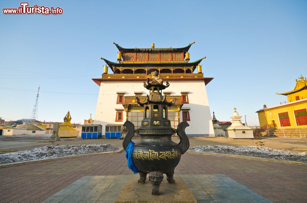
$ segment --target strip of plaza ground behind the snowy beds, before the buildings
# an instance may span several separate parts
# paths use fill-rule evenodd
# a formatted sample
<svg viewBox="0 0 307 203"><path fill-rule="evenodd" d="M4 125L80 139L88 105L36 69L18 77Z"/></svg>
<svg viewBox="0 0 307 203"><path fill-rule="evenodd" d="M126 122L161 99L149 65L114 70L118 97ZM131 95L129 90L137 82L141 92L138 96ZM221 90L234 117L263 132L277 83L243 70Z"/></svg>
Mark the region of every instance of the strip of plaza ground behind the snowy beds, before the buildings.
<svg viewBox="0 0 307 203"><path fill-rule="evenodd" d="M134 142L138 142L140 137L134 137L132 140ZM6 150L14 150L14 151L22 151L29 150L34 147L42 147L46 145L51 145L50 142L47 142L48 137L45 139L36 139L35 136L31 138L23 138L18 136L0 136L0 151L3 149ZM228 146L249 146L256 145L256 140L243 140L243 139L227 139L224 137L196 137L189 138L190 146L197 145L228 145ZM173 137L174 142L179 142L178 137ZM268 138L264 137L262 139L264 142L264 147L271 147L275 149L289 150L289 151L298 151L307 152L307 139L298 139L298 138ZM62 139L60 142L55 142L55 145L69 145L69 144L112 144L116 147L122 146L122 140L119 139L78 139L78 140L68 140ZM7 153L7 152L6 152Z"/></svg>

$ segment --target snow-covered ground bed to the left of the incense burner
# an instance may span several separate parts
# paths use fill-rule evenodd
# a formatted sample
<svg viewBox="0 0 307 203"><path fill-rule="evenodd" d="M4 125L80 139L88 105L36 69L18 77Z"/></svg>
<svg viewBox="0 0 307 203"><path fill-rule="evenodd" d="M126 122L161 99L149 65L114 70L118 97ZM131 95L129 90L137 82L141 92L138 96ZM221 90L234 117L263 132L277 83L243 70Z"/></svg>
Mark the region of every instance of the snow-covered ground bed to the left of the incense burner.
<svg viewBox="0 0 307 203"><path fill-rule="evenodd" d="M8 154L0 154L0 164L13 163L37 159L50 159L55 157L91 154L107 151L116 151L119 147L111 144L79 144L79 145L61 145L61 146L44 146L33 148L29 151L18 151Z"/></svg>

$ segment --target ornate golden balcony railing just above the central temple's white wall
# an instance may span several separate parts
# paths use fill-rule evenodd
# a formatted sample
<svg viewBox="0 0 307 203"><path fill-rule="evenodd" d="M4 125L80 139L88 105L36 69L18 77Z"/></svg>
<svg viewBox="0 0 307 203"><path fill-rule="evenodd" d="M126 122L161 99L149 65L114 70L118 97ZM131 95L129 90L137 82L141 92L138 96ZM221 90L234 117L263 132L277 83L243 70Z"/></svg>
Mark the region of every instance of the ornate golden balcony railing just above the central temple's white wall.
<svg viewBox="0 0 307 203"><path fill-rule="evenodd" d="M150 75L144 73L113 73L113 74L102 74L102 78L147 78ZM203 73L161 73L161 78L203 78Z"/></svg>

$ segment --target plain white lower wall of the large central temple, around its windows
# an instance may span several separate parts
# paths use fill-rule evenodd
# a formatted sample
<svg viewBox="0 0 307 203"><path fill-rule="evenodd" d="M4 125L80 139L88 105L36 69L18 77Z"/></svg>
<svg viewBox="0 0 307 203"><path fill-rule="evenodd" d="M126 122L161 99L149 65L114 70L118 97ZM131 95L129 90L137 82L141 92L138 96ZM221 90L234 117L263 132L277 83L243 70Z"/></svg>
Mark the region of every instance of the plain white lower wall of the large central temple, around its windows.
<svg viewBox="0 0 307 203"><path fill-rule="evenodd" d="M166 81L167 79L164 79L164 84ZM190 126L186 128L186 134L188 136L215 136L204 81L170 80L169 84L170 86L165 91L172 91L171 95L181 95L181 91L189 91L189 103L183 105L183 107L191 108L189 110L191 121L187 121ZM143 96L149 94L149 90L143 87L142 81L102 81L94 124L103 125L103 134L106 124L123 124L126 121L126 112L123 112L123 122L115 122L115 108L124 108L122 104L116 104L116 92L119 91L125 91L124 96L134 96L134 92L138 91L143 91ZM180 112L180 121L182 121L182 112Z"/></svg>

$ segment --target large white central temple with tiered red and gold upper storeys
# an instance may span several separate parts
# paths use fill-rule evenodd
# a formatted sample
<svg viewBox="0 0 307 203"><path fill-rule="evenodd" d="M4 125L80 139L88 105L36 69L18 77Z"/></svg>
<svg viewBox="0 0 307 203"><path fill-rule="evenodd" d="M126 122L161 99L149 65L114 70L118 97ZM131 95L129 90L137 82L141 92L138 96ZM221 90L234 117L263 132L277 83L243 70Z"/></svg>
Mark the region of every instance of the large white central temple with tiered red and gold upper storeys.
<svg viewBox="0 0 307 203"><path fill-rule="evenodd" d="M171 126L177 128L179 122L188 121L188 136L215 136L206 92L213 78L202 72L200 62L206 57L190 62L188 50L194 43L183 48L155 48L154 44L151 48L122 48L113 42L119 50L117 62L101 58L106 62L102 78L93 79L100 86L94 124L103 125L103 135L107 125L126 120L141 127L143 109L136 97L144 101L143 82L156 71L156 77L169 81L170 87L163 91L167 101L176 99L168 109Z"/></svg>

